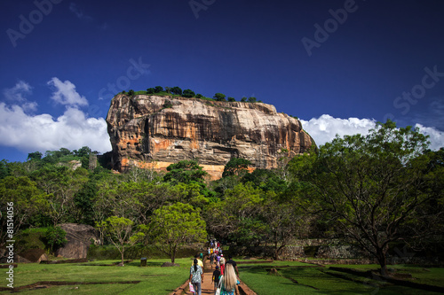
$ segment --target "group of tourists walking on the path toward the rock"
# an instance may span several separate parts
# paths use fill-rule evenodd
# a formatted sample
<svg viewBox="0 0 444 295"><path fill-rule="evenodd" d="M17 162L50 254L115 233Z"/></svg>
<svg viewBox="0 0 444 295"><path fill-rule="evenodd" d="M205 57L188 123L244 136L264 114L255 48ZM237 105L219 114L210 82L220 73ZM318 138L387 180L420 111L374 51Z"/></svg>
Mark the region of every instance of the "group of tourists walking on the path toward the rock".
<svg viewBox="0 0 444 295"><path fill-rule="evenodd" d="M203 283L203 262L199 258L202 259L202 253L194 257L189 278L196 295L201 295ZM219 242L215 240L210 241L207 259L210 259L211 269L215 265L211 278L212 283L214 283L214 291L220 289L220 295L239 294L237 284L240 282L237 279L239 276L237 264L231 255L228 255L228 260L225 259Z"/></svg>

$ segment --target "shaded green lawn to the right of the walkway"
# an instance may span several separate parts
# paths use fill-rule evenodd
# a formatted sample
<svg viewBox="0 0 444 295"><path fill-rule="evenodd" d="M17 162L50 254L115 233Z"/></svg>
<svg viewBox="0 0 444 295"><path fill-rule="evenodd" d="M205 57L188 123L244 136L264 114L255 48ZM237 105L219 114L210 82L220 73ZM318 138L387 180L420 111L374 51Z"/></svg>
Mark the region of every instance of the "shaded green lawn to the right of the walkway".
<svg viewBox="0 0 444 295"><path fill-rule="evenodd" d="M266 266L266 268L264 268ZM289 268L279 268L289 266ZM292 261L274 261L261 265L240 264L241 279L258 295L273 294L437 294L413 288L401 287L390 283L380 282L370 277L359 277L325 268L301 268L308 264ZM312 265L313 266L313 265ZM278 267L281 276L269 276L268 270ZM336 267L361 268L362 270L377 269L377 266L348 266ZM395 267L395 268L398 268ZM420 270L422 269L422 270ZM416 272L414 271L416 270ZM398 272L408 272L416 283L441 285L444 278L443 268L414 268L400 267ZM340 276L340 277L338 277ZM297 283L295 283L297 282Z"/></svg>

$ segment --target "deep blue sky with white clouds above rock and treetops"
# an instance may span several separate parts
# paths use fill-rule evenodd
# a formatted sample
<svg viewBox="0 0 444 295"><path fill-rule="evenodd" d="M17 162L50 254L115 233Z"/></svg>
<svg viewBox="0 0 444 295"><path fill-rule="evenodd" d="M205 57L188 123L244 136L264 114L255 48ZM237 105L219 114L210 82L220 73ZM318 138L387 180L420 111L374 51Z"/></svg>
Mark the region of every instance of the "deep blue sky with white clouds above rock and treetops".
<svg viewBox="0 0 444 295"><path fill-rule="evenodd" d="M326 132L353 133L386 118L421 124L443 143L439 0L18 0L0 8L0 159L85 144L106 151L98 141L107 141L110 84L254 96L305 120L320 143ZM326 24L328 37L318 32L309 56L302 40L315 42L316 25ZM411 91L419 98L402 98Z"/></svg>

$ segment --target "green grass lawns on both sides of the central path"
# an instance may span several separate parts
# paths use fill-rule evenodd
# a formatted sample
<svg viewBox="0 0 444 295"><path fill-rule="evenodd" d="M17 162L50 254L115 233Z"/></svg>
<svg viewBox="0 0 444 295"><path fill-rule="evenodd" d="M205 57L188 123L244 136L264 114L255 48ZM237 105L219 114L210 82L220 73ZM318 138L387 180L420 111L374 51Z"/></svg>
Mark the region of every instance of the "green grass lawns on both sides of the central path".
<svg viewBox="0 0 444 295"><path fill-rule="evenodd" d="M23 290L24 294L168 294L184 283L188 277L191 258L178 259L178 268L161 268L168 260L148 260L147 268L139 267L134 260L125 267L99 266L116 260L100 260L79 264L19 264L14 269L14 286L39 281L78 282L75 285L52 286L47 289ZM242 260L237 260L241 262ZM249 262L251 260L245 260ZM257 260L261 261L261 260ZM348 275L329 269L295 261L265 261L258 264L238 264L241 279L258 295L274 294L437 294L413 288L400 287L366 277ZM279 276L268 275L277 268ZM377 269L376 265L335 267ZM416 283L443 286L444 268L415 268L395 266L398 273L409 273ZM4 273L4 271L1 271ZM4 276L4 275L3 275ZM4 279L2 279L4 281ZM140 283L117 282L140 281ZM82 284L82 283L103 284ZM6 287L2 283L1 287ZM6 294L9 291L0 291Z"/></svg>

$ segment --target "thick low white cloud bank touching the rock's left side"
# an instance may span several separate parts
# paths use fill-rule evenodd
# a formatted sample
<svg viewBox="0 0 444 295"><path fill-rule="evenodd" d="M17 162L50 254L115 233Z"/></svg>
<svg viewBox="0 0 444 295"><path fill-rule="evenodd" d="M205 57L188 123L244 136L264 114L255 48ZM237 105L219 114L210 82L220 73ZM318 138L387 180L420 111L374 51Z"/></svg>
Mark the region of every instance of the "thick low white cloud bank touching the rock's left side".
<svg viewBox="0 0 444 295"><path fill-rule="evenodd" d="M73 107L54 120L47 113L28 115L19 105L0 103L0 138L2 145L25 152L62 147L75 150L84 145L94 151L111 151L107 122L103 118L87 118Z"/></svg>

